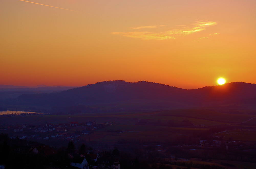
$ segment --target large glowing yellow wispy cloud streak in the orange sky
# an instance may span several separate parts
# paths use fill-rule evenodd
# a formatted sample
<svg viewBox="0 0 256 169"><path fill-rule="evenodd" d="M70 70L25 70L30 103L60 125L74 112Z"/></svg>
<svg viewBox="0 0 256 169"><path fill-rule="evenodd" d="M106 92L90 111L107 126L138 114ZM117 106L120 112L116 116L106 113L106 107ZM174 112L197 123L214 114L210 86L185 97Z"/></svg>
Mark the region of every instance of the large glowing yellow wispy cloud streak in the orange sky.
<svg viewBox="0 0 256 169"><path fill-rule="evenodd" d="M118 34L122 36L140 38L142 40L165 40L165 39L175 39L179 36L185 36L192 33L200 32L205 30L209 26L216 25L216 22L211 21L197 21L192 26L187 25L176 25L177 29L170 29L165 32L150 32L150 31L133 31L133 32L111 32L111 34ZM135 27L132 29L145 29L145 28L157 28L164 25L153 25L153 26L142 26Z"/></svg>

